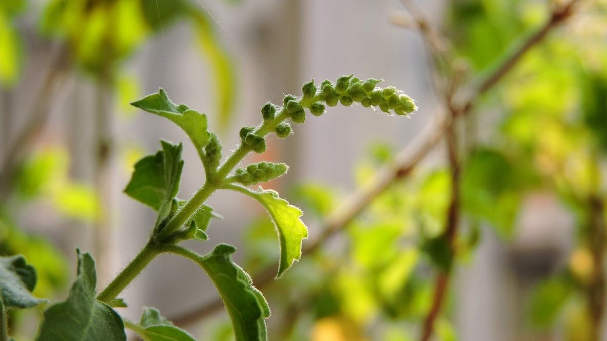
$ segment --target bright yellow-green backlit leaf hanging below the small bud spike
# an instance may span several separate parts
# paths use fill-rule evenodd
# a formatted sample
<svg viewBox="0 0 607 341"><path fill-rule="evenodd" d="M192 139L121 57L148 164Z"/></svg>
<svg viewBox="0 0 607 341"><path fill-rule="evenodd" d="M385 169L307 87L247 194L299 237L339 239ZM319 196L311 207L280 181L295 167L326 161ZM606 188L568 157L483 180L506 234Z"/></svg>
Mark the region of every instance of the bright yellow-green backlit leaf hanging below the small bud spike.
<svg viewBox="0 0 607 341"><path fill-rule="evenodd" d="M270 214L280 240L280 265L276 275L277 278L280 277L302 255L302 241L308 237L308 228L299 218L303 214L302 211L280 198L276 191L264 190L261 187L259 191L251 191L237 185L229 185L226 188L255 198Z"/></svg>

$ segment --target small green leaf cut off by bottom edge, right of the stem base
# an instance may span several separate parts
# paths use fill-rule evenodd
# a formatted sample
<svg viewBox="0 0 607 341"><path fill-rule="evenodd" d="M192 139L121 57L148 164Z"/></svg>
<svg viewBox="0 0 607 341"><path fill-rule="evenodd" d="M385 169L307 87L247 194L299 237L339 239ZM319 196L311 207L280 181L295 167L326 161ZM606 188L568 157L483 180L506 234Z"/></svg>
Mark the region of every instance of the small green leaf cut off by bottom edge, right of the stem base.
<svg viewBox="0 0 607 341"><path fill-rule="evenodd" d="M161 316L155 308L144 307L140 325L126 323L126 326L146 341L196 341L188 332Z"/></svg>

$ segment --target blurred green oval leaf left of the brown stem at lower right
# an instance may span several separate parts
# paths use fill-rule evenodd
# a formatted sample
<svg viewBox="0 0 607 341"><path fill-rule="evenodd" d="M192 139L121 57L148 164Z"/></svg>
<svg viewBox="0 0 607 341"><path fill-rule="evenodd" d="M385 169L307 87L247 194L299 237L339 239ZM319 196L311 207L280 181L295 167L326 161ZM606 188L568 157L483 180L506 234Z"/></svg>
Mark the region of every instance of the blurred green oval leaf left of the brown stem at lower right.
<svg viewBox="0 0 607 341"><path fill-rule="evenodd" d="M527 308L529 322L535 328L549 328L571 298L574 287L565 277L540 282L531 294Z"/></svg>

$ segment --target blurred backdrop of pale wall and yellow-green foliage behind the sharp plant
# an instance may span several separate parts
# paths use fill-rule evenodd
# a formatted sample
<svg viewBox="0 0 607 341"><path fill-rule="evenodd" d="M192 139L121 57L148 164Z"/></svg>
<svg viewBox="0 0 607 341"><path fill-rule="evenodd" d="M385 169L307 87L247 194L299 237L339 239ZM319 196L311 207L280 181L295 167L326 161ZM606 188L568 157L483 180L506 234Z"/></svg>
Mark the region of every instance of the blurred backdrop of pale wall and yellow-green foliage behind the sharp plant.
<svg viewBox="0 0 607 341"><path fill-rule="evenodd" d="M227 151L265 101L354 73L384 79L420 109L405 118L329 108L248 158L291 166L263 187L300 206L310 241L322 240L260 287L270 339L418 340L448 273L433 339L607 340L607 2L571 2L1 0L0 252L24 254L38 270L35 293L55 302L79 247L95 256L103 288L154 225L154 212L121 193L133 164L160 138L186 142L129 102L163 87L206 113ZM441 140L324 237L345 198L413 157L470 93L472 109L452 127L459 175ZM203 183L196 158L185 143L181 198ZM453 184L459 228L446 243ZM279 245L261 206L224 192L209 204L224 218L209 241L187 246L231 243L254 278L274 271ZM205 310L212 283L180 258L158 257L121 297L130 319L155 306L200 340L233 339L225 312ZM12 316L16 340L33 339L39 317Z"/></svg>

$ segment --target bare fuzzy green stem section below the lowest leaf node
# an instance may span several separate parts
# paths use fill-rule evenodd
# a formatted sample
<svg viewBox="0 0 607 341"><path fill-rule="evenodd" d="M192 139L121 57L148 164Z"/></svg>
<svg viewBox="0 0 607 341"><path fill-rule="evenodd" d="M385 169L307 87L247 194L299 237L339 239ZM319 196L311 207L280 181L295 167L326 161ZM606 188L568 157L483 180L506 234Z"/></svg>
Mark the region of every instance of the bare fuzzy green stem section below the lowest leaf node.
<svg viewBox="0 0 607 341"><path fill-rule="evenodd" d="M135 256L131 263L129 263L126 268L122 269L120 274L101 291L97 296L97 299L105 303L112 302L112 300L120 295L120 292L122 292L159 253L160 251L157 249L157 246L148 243L148 245L144 246L139 254Z"/></svg>

